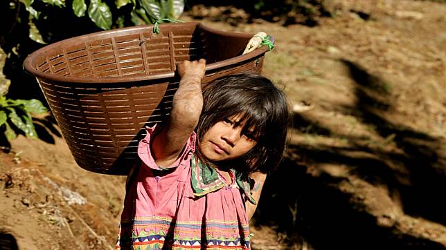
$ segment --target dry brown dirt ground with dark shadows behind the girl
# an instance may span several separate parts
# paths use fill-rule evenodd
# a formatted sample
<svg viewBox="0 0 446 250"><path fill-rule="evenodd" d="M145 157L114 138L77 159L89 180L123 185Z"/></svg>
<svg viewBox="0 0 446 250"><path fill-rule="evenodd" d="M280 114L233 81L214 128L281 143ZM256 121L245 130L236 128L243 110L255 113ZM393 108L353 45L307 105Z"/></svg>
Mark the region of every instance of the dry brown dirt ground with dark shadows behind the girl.
<svg viewBox="0 0 446 250"><path fill-rule="evenodd" d="M446 4L331 3L312 28L201 20L273 35L263 74L294 110L253 249L446 249ZM0 249L112 249L125 177L80 169L36 124L45 140L0 153Z"/></svg>

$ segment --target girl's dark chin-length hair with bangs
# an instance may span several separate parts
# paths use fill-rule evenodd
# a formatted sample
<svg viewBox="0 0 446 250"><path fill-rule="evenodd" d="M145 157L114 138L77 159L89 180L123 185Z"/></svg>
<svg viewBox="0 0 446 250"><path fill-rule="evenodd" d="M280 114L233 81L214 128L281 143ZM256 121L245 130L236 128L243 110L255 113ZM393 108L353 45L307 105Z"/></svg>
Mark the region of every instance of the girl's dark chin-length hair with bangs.
<svg viewBox="0 0 446 250"><path fill-rule="evenodd" d="M291 120L287 99L281 90L266 77L246 73L211 82L203 90L203 99L197 125L197 148L204 133L214 124L241 114L240 122L244 123L242 133L254 128L257 144L233 164L238 164L237 168L242 168L245 173L269 173L276 169L285 152ZM199 150L197 156L205 160Z"/></svg>

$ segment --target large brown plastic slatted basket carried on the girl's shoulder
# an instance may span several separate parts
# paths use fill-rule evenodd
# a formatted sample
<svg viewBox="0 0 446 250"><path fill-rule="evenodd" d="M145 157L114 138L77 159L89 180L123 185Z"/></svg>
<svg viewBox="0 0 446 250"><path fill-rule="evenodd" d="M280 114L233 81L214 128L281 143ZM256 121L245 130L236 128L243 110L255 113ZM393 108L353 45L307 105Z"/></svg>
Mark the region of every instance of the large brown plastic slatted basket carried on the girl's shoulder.
<svg viewBox="0 0 446 250"><path fill-rule="evenodd" d="M253 34L202 23L121 28L41 48L24 61L46 97L75 161L97 173L125 175L145 126L168 117L177 62L207 61L204 84L224 75L260 73L267 47L242 55Z"/></svg>

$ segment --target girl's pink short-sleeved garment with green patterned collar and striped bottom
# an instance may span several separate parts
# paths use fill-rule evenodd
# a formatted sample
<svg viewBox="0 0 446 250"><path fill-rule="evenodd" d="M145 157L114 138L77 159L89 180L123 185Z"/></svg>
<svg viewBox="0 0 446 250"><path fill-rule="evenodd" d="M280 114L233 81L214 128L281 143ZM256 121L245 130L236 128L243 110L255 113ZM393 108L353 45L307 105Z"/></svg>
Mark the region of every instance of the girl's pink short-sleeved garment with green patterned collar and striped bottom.
<svg viewBox="0 0 446 250"><path fill-rule="evenodd" d="M156 126L139 143L142 164L127 190L116 249L250 249L246 192L235 173L227 185L222 175L206 176L217 169L191 164L195 133L178 160L160 168L150 151Z"/></svg>

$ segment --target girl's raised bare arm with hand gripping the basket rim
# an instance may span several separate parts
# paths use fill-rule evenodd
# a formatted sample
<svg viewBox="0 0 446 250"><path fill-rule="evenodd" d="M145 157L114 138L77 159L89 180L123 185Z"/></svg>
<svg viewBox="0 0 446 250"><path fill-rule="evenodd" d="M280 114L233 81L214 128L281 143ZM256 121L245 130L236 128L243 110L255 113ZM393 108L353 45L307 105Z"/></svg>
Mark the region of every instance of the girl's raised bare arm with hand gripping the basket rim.
<svg viewBox="0 0 446 250"><path fill-rule="evenodd" d="M177 160L190 134L197 126L203 107L202 79L206 61L183 61L177 70L181 77L172 99L170 119L154 135L152 155L158 166L167 167Z"/></svg>

